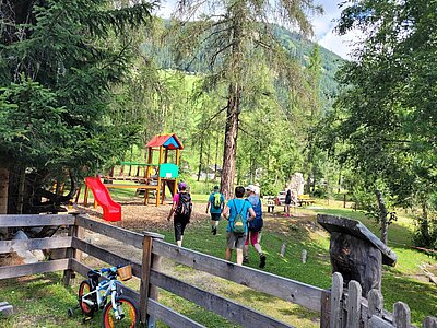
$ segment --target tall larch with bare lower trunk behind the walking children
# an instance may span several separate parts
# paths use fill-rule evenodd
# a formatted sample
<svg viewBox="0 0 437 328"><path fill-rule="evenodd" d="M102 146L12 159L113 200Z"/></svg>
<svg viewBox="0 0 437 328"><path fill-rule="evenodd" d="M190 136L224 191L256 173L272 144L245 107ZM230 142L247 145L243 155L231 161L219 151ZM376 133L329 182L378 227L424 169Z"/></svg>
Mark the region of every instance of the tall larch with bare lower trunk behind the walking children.
<svg viewBox="0 0 437 328"><path fill-rule="evenodd" d="M205 87L221 85L226 113L221 190L233 195L236 176L239 115L245 101L257 90L255 80L260 67L286 81L291 92L298 93L302 67L284 50L273 33L271 22L311 33L309 14L321 12L314 1L197 1L178 2L177 48L180 58L199 56L210 65ZM202 47L208 44L208 48ZM258 90L259 92L259 90ZM262 91L259 96L262 96ZM267 93L265 93L267 94Z"/></svg>

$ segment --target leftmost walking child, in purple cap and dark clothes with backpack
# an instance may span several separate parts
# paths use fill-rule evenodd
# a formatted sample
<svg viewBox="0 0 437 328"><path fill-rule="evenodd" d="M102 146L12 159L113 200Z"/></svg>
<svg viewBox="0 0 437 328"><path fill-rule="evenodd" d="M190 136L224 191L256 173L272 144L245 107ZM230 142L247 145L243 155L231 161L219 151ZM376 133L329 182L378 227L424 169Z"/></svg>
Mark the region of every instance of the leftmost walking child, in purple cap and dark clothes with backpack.
<svg viewBox="0 0 437 328"><path fill-rule="evenodd" d="M173 225L175 227L175 241L179 247L182 246L184 232L187 224L190 222L192 211L191 196L187 191L187 184L179 183L178 192L173 197L173 206L167 216L167 221L173 218Z"/></svg>

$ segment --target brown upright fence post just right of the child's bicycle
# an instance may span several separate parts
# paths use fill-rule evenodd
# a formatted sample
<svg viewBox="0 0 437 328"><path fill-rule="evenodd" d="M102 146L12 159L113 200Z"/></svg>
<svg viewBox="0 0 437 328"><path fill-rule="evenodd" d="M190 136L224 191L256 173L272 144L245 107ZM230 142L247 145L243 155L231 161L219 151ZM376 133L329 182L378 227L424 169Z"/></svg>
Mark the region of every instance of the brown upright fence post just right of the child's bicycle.
<svg viewBox="0 0 437 328"><path fill-rule="evenodd" d="M154 238L163 239L164 236L144 232L140 282L140 325L149 328L155 327L155 318L154 316L147 316L147 301L149 297L157 300L157 288L150 284L150 270L152 267L158 269L161 262L161 258L152 254Z"/></svg>

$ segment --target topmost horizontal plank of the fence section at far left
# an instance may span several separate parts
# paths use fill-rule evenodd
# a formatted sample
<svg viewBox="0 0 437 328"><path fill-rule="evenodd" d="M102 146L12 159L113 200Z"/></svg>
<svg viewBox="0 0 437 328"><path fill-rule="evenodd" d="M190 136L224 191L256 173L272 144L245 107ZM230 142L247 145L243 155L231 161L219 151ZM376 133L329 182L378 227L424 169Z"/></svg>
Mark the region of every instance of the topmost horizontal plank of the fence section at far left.
<svg viewBox="0 0 437 328"><path fill-rule="evenodd" d="M0 227L21 227L21 226L45 226L45 225L70 225L74 224L74 215L64 214L27 214L27 215L0 215Z"/></svg>

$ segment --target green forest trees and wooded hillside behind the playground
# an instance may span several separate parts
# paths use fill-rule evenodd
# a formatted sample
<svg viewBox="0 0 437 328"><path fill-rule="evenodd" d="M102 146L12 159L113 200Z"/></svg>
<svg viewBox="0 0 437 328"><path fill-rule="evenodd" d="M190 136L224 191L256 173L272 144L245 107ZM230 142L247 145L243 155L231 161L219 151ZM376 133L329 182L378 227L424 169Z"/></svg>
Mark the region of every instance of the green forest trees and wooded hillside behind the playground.
<svg viewBox="0 0 437 328"><path fill-rule="evenodd" d="M163 20L158 2L1 1L0 213L60 211L172 132L197 192L276 195L302 172L386 244L410 211L436 250L437 1L345 1L338 33L365 36L350 61L311 42L315 1L273 2L179 1Z"/></svg>

